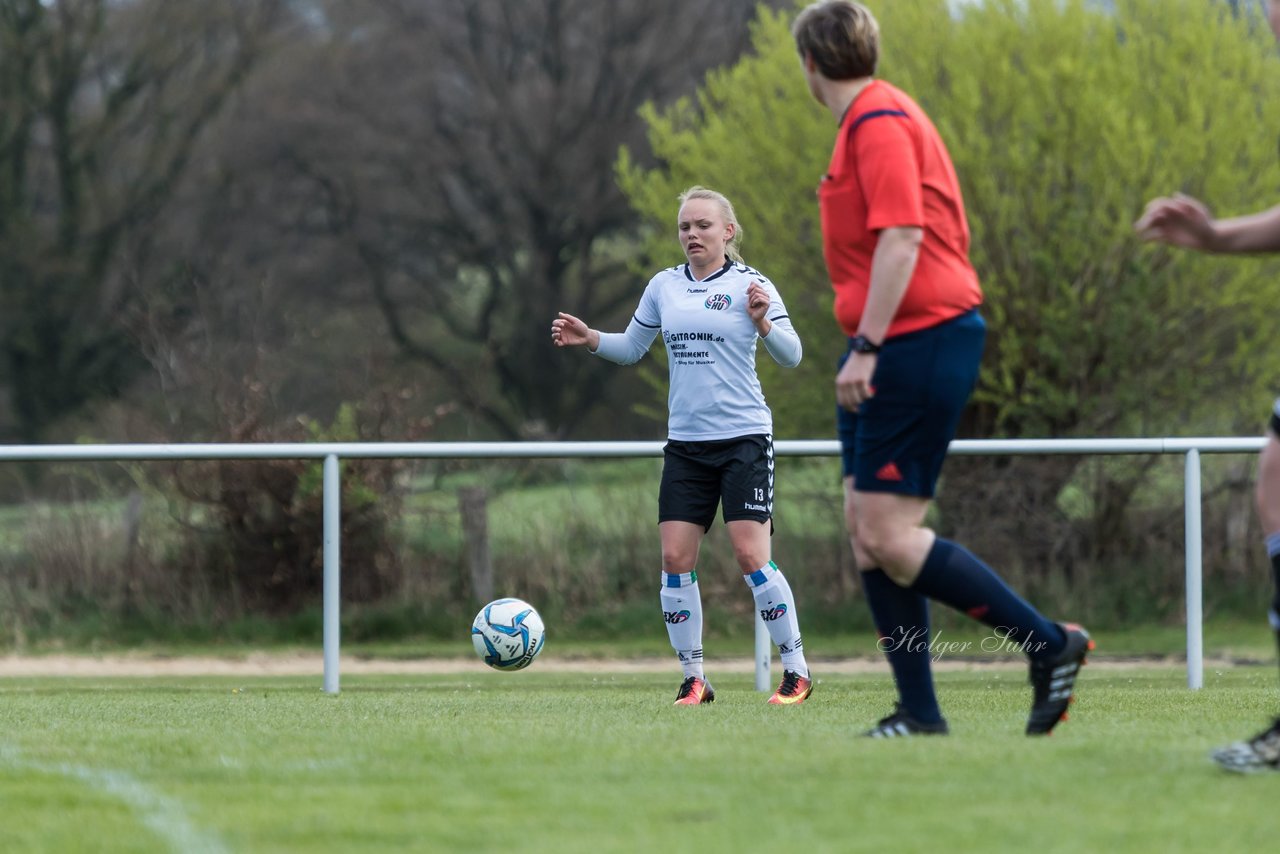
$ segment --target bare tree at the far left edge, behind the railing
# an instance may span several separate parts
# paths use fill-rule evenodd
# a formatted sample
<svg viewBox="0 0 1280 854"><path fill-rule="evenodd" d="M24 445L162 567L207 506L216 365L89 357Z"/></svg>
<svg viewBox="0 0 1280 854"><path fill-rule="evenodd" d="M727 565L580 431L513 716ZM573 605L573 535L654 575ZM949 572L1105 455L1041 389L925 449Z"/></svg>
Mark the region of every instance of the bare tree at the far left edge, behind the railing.
<svg viewBox="0 0 1280 854"><path fill-rule="evenodd" d="M40 440L142 366L131 273L280 9L0 0L0 430Z"/></svg>

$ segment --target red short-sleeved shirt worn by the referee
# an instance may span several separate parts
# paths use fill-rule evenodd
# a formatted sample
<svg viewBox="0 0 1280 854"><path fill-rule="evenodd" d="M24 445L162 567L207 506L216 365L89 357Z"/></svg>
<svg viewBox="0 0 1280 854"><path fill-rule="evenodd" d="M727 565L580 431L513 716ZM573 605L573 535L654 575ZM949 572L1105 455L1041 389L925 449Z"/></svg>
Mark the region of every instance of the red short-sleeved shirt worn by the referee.
<svg viewBox="0 0 1280 854"><path fill-rule="evenodd" d="M929 117L905 92L883 81L859 92L841 120L818 201L836 320L846 334L858 332L883 228L924 229L915 271L887 337L934 326L982 303L951 156Z"/></svg>

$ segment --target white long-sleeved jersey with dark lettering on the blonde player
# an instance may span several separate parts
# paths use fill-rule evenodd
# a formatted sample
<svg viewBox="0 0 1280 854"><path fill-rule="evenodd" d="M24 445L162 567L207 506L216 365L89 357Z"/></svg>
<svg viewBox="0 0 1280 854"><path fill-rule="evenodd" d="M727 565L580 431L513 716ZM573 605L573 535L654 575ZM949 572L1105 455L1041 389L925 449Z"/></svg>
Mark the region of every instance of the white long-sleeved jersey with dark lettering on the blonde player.
<svg viewBox="0 0 1280 854"><path fill-rule="evenodd" d="M773 324L764 347L783 367L800 364L800 337L777 288L744 264L724 266L701 282L687 264L649 280L635 316L622 333L600 333L596 355L621 365L639 361L658 332L667 344L671 393L667 435L682 442L773 434L773 414L755 374L755 342L746 312L746 288L758 282L769 293Z"/></svg>

